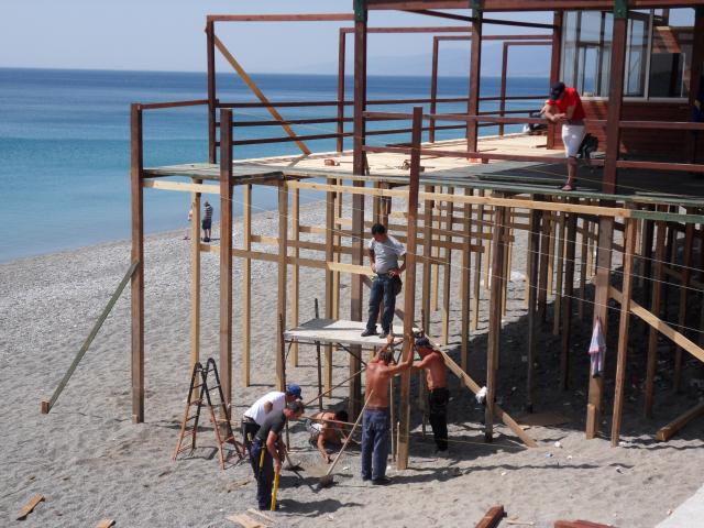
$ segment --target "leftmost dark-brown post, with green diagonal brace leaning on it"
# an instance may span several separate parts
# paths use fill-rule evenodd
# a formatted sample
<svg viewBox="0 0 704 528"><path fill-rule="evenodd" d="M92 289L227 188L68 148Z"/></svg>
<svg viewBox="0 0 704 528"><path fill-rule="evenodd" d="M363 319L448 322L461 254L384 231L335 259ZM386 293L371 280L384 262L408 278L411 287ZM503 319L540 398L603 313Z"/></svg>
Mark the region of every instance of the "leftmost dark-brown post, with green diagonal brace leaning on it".
<svg viewBox="0 0 704 528"><path fill-rule="evenodd" d="M130 108L132 262L139 262L130 280L132 312L132 421L144 421L144 176L142 109Z"/></svg>

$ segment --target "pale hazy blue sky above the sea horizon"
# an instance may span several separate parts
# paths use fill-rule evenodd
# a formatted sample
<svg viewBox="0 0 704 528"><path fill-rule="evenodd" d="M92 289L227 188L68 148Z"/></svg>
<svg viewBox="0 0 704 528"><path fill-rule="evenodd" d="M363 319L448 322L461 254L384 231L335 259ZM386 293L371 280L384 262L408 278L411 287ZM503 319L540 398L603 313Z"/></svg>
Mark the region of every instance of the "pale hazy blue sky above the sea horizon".
<svg viewBox="0 0 704 528"><path fill-rule="evenodd" d="M204 72L207 14L351 11L352 0L0 0L0 67ZM551 13L492 18L550 22ZM464 24L399 12L377 11L370 16L370 25ZM351 23L221 23L216 31L249 72L333 74L341 25ZM543 31L497 25L485 30L486 34L537 32ZM427 69L431 42L430 35L370 36L370 74L394 64L399 72L389 73L415 74L416 62ZM444 44L443 50L469 48L468 43ZM351 56L351 38L348 45ZM540 72L546 69L541 58L535 62ZM219 58L218 69L224 67ZM446 75L462 74L441 61L441 75L443 68Z"/></svg>

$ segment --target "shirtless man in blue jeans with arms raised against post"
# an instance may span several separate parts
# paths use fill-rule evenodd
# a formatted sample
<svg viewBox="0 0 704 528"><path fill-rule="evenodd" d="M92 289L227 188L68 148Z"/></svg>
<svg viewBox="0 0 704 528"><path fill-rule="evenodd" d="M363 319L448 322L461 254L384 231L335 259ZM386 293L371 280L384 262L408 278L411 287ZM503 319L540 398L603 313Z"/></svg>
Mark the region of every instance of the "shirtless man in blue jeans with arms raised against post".
<svg viewBox="0 0 704 528"><path fill-rule="evenodd" d="M369 399L362 418L362 480L372 480L372 484L389 484L386 476L388 458L388 381L414 362L413 350L406 361L393 363L394 353L388 350L394 342L393 336L386 338L386 345L366 364L366 385L364 399ZM370 398L370 394L374 394Z"/></svg>

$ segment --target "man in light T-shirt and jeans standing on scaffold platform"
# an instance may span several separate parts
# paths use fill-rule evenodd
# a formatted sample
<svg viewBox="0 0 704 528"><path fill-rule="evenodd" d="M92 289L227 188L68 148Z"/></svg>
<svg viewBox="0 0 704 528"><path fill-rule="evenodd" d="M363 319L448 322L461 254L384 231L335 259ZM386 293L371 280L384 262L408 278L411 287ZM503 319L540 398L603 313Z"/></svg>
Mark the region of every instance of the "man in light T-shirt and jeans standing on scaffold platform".
<svg viewBox="0 0 704 528"><path fill-rule="evenodd" d="M367 250L372 271L376 274L372 283L370 294L370 311L366 329L362 337L376 334L376 319L378 309L384 300L384 314L382 314L381 339L392 336L392 321L396 309L396 284L400 280L400 274L406 270L406 262L398 266L398 258L406 254L406 248L393 237L386 234L386 228L381 223L372 226L372 240Z"/></svg>

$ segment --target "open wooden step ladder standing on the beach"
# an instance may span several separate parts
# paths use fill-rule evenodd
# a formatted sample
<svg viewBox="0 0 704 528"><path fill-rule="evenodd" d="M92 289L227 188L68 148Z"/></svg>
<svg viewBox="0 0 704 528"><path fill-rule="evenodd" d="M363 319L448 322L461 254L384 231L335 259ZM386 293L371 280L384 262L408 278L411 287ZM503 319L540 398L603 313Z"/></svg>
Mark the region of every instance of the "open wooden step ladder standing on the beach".
<svg viewBox="0 0 704 528"><path fill-rule="evenodd" d="M208 377L210 375L215 378L215 385L212 386L208 384ZM194 391L198 391L197 398L194 398ZM213 406L213 397L211 396L211 393L216 391L217 404ZM174 450L172 460L176 460L178 454L186 450L193 452L196 449L198 421L200 419L200 409L204 405L207 406L210 411L210 421L216 432L216 441L218 442L220 469L224 470L224 446L227 443L233 446L240 460L244 457L244 447L234 438L232 424L230 422L230 411L224 404L224 395L222 394L222 387L220 386L218 366L212 358L208 359L205 367L201 363L196 363L194 365L194 370L190 375L190 386L188 388L188 399L186 400L186 410L184 411L184 420L180 425L180 433L178 435L178 442L176 443L176 449ZM194 407L196 410L195 413L191 413ZM216 416L215 407L218 407L219 416L221 418ZM190 437L190 444L184 446L184 439L186 437Z"/></svg>

